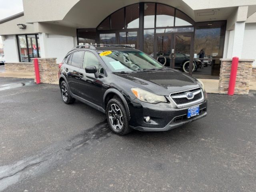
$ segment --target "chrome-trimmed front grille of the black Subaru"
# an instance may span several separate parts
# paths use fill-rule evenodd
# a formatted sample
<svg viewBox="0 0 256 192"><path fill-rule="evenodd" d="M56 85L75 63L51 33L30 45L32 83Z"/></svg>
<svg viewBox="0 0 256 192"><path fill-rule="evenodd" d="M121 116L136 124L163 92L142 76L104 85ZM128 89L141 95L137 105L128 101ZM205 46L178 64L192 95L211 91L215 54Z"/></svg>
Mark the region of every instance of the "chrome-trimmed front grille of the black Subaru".
<svg viewBox="0 0 256 192"><path fill-rule="evenodd" d="M186 96L187 92L192 92L194 94L194 98L188 99ZM193 105L204 100L201 88L172 93L170 94L170 98L172 98L178 107Z"/></svg>

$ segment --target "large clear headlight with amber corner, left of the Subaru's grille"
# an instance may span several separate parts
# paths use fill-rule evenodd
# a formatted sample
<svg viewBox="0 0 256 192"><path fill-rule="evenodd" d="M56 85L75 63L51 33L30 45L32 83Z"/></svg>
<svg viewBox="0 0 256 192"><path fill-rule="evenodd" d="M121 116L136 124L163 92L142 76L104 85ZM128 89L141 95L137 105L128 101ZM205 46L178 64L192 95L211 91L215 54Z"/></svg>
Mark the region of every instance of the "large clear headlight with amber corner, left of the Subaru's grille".
<svg viewBox="0 0 256 192"><path fill-rule="evenodd" d="M167 102L164 96L156 95L139 88L131 88L131 90L133 94L136 96L136 98L138 98L143 102L147 102L147 103Z"/></svg>

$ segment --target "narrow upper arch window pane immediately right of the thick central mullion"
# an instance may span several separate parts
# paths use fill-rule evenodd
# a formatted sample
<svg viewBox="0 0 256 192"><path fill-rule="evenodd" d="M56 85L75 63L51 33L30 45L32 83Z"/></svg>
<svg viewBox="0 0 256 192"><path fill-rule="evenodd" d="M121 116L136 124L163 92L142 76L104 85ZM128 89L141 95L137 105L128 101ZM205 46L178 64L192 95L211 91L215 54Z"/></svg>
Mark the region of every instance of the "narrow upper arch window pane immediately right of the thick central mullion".
<svg viewBox="0 0 256 192"><path fill-rule="evenodd" d="M155 4L145 3L144 4L144 28L155 27Z"/></svg>

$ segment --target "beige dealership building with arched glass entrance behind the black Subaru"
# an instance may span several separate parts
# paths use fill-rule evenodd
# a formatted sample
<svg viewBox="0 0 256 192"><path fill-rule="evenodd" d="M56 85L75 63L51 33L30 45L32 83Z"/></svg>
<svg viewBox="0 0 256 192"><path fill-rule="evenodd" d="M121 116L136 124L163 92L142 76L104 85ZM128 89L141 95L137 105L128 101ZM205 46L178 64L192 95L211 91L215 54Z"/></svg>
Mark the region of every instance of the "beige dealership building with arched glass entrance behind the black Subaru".
<svg viewBox="0 0 256 192"><path fill-rule="evenodd" d="M256 66L255 0L23 0L23 6L0 20L7 65L33 58L58 64L77 45L124 44L166 66L180 62L196 78L220 78L221 61L234 56Z"/></svg>

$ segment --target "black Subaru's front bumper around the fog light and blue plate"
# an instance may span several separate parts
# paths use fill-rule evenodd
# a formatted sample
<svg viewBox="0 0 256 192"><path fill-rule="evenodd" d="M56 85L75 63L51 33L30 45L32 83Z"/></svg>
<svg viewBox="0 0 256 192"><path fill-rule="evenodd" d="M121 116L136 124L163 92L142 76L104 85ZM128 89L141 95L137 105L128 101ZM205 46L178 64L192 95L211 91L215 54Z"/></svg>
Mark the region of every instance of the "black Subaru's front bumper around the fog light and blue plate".
<svg viewBox="0 0 256 192"><path fill-rule="evenodd" d="M174 103L149 104L138 99L128 104L130 110L130 127L140 131L167 131L207 115L207 100L193 106L199 106L200 113L197 116L187 118L188 108L177 108ZM150 122L144 120L150 116Z"/></svg>

